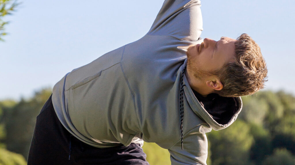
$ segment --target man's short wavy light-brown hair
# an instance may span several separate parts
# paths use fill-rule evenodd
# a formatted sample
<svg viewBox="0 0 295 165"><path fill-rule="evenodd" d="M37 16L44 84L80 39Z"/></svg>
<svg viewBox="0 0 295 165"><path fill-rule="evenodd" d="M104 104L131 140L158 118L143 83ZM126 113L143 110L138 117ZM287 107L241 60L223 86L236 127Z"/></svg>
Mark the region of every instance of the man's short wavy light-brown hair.
<svg viewBox="0 0 295 165"><path fill-rule="evenodd" d="M227 63L215 73L223 85L216 93L224 97L252 95L267 81L266 62L260 47L248 34L237 38L235 54L235 62Z"/></svg>

